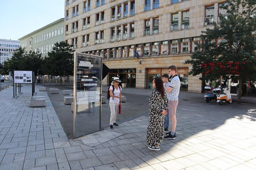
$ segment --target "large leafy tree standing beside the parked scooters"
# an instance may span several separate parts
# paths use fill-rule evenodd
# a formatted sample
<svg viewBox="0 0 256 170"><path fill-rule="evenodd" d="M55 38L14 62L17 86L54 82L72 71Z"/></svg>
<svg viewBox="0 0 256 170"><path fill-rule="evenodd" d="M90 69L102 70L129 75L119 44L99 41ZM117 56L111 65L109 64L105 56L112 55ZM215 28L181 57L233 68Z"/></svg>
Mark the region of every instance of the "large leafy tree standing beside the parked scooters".
<svg viewBox="0 0 256 170"><path fill-rule="evenodd" d="M185 64L192 64L189 74L193 76L204 73L201 80L239 75L240 103L242 81L256 77L256 1L227 0L220 8L225 9L227 15L220 14L220 23L214 23L213 29L202 32L206 41L198 47L203 50L193 53ZM224 41L216 42L219 38Z"/></svg>

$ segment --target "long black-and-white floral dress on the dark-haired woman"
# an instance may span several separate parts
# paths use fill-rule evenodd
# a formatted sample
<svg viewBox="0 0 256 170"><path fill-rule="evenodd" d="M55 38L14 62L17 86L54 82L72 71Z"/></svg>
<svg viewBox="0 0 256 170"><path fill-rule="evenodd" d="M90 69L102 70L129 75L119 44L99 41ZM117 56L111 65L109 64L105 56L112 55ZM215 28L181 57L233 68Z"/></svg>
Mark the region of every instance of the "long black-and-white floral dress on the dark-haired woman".
<svg viewBox="0 0 256 170"><path fill-rule="evenodd" d="M160 144L164 140L164 118L162 111L168 109L168 98L162 98L158 90L152 91L149 98L149 125L147 130L147 145Z"/></svg>

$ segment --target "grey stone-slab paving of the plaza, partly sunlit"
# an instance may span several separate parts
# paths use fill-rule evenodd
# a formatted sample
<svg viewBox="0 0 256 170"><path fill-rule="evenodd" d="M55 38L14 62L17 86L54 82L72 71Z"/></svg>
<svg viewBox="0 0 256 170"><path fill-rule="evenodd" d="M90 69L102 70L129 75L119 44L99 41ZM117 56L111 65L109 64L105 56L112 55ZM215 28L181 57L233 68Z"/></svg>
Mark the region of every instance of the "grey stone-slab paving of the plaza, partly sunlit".
<svg viewBox="0 0 256 170"><path fill-rule="evenodd" d="M31 86L11 99L0 92L0 170L162 170L255 169L255 103L206 103L203 94L181 93L177 137L161 151L146 146L148 116L122 121L118 128L69 140L47 92L46 107L30 108ZM148 98L150 91L135 89ZM123 94L128 94L125 89ZM63 96L62 96L63 98ZM254 100L254 99L253 99ZM127 98L127 103L132 98ZM124 103L125 105L125 103ZM141 110L148 110L142 107Z"/></svg>

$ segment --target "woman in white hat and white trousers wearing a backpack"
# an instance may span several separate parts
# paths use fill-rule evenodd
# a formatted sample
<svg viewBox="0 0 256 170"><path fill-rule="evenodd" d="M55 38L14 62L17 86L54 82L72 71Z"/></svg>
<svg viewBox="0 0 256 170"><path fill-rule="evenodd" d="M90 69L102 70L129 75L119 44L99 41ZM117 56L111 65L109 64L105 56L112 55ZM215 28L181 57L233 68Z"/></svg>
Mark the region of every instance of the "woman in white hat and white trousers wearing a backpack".
<svg viewBox="0 0 256 170"><path fill-rule="evenodd" d="M119 86L121 81L118 77L114 77L112 81L113 85L108 88L107 98L109 99L109 106L110 106L110 123L109 128L113 130L113 126L118 127L119 125L116 124L116 116L119 111L119 105L122 106L122 87Z"/></svg>

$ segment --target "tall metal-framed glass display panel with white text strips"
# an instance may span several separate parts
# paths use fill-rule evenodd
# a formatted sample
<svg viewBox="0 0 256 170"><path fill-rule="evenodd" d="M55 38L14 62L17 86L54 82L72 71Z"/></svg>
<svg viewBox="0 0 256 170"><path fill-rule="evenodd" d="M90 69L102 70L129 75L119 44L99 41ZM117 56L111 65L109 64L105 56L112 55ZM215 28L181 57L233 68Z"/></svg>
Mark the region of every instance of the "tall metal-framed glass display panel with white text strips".
<svg viewBox="0 0 256 170"><path fill-rule="evenodd" d="M74 138L100 130L102 57L75 52Z"/></svg>

